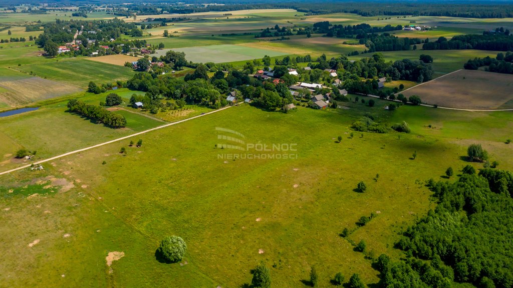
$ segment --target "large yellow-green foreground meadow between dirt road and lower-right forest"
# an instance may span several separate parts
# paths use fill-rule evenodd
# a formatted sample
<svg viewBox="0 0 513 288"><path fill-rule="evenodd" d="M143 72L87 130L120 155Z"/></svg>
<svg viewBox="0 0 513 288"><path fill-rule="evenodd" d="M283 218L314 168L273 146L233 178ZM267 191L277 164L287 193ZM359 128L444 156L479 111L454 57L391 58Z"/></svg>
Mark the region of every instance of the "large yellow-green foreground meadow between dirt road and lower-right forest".
<svg viewBox="0 0 513 288"><path fill-rule="evenodd" d="M79 282L232 287L249 282L249 270L264 260L281 287L301 286L312 264L321 287L329 287L339 271L346 277L359 273L364 282L376 283L370 260L353 252L338 233L356 228L360 216L379 211L348 239L364 239L375 255L399 257L392 248L398 233L432 208L422 182L443 175L448 166L466 164L459 157L468 144L458 137L478 136L472 141L485 143L493 158L503 159L507 154L501 154L501 147L507 145L502 137L513 125L504 114L410 106L388 112L381 109L385 103L378 99L373 108L347 103L349 109L300 108L288 114L233 107L137 137L144 140L143 147L128 149L125 157L117 152L128 140L57 160L44 172L0 177L0 193L6 196L0 209L9 208L0 215L6 223L0 240L8 245L0 264L2 281L13 287L41 281L48 287ZM368 111L390 123L406 120L414 133L400 140L396 134L373 133L349 139L345 133L353 117ZM447 125L426 128L438 127L436 121ZM468 124L460 130L465 121L472 122L472 131ZM242 133L247 143L297 143L298 157L220 159L218 154L233 151L214 149L221 141L215 127ZM496 133L482 133L490 127ZM343 135L342 143L334 140L338 135ZM418 157L409 160L414 150ZM372 157L362 161L370 152ZM102 165L104 160L107 164ZM501 160L502 168L513 167L507 161ZM380 177L374 181L376 173ZM42 187L51 183L38 186L48 175L75 188L52 193L52 188ZM127 181L130 175L137 180ZM366 193L352 191L359 180L366 181ZM33 193L42 195L27 199ZM33 204L22 204L27 201ZM71 236L63 238L65 234ZM183 265L155 260L154 251L165 235L187 241ZM40 242L28 248L34 240ZM105 257L112 251L125 257L112 264L110 274ZM38 265L25 265L32 258ZM13 273L18 277L10 277Z"/></svg>

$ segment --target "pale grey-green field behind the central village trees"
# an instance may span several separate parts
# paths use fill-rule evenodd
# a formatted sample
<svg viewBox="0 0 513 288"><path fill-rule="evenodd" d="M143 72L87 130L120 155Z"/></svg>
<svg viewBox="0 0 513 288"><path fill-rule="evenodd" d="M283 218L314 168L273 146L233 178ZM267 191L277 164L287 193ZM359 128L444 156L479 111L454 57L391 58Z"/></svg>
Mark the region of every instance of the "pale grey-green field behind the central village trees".
<svg viewBox="0 0 513 288"><path fill-rule="evenodd" d="M249 60L255 58L262 58L265 55L271 57L282 56L287 53L258 49L248 48L239 45L214 45L214 46L203 46L203 47L188 47L188 48L176 48L172 49L177 52L185 52L187 60L196 63L223 63L231 61ZM165 55L169 49L157 50L154 56Z"/></svg>

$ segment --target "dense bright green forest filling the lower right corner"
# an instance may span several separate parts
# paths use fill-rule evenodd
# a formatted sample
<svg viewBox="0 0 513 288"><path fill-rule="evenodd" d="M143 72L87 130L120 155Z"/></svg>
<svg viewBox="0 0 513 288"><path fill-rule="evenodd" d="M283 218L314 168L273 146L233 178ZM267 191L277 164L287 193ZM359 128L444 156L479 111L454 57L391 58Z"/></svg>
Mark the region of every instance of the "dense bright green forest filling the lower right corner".
<svg viewBox="0 0 513 288"><path fill-rule="evenodd" d="M382 287L513 286L513 173L464 171L455 182L428 182L437 208L397 243L406 260L379 257Z"/></svg>

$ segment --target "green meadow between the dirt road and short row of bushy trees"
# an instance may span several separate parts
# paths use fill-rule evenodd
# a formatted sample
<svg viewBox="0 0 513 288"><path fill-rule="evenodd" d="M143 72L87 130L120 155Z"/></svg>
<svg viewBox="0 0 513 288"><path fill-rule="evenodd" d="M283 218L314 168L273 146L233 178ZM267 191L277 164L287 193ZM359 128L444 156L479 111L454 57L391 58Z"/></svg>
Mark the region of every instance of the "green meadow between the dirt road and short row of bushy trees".
<svg viewBox="0 0 513 288"><path fill-rule="evenodd" d="M98 104L108 93L111 92L98 95L82 93L77 94L77 97L88 103ZM125 99L129 98L125 94L129 93L120 93L125 96ZM0 154L14 154L23 147L36 150L39 158L47 158L164 124L145 115L121 110L115 113L125 116L127 127L112 129L94 124L79 115L65 112L66 104L67 101L59 102L44 106L37 111L0 118L0 135L2 135L0 139L10 139L5 146L2 145L3 150ZM21 164L19 161L12 160L12 155L6 156L1 161L4 161L0 164L2 171Z"/></svg>

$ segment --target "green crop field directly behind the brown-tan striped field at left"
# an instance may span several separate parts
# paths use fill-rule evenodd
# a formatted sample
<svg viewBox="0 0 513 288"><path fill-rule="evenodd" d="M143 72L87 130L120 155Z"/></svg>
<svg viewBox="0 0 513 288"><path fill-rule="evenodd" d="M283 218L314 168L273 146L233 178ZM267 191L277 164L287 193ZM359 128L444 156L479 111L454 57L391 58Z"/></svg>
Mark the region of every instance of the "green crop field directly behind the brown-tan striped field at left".
<svg viewBox="0 0 513 288"><path fill-rule="evenodd" d="M58 62L23 65L15 69L82 88L86 88L89 81L115 83L116 80L128 79L135 74L128 67L88 61L85 58L61 59Z"/></svg>

